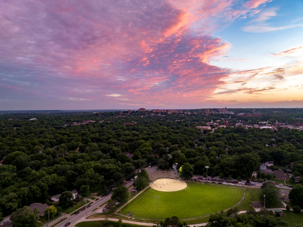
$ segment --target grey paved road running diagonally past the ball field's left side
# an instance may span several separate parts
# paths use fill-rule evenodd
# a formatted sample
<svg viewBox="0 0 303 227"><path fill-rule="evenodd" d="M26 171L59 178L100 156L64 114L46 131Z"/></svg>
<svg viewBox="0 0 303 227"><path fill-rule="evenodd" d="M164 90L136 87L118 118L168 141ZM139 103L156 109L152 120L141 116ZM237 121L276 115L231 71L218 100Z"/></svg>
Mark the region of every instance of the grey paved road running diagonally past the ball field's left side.
<svg viewBox="0 0 303 227"><path fill-rule="evenodd" d="M148 173L155 171L155 169L157 169L157 166L152 166L150 169L147 169L146 171ZM132 189L132 184L134 181L128 181L127 186L128 188L130 188L130 190ZM64 226L66 222L71 222L71 225L69 226L75 226L76 223L78 223L78 220L80 219L85 219L86 218L86 211L87 211L87 216L92 215L92 214L96 214L96 213L100 213L102 212L101 208L99 207L101 204L107 202L108 200L111 199L111 194L109 194L108 196L103 196L103 197L98 197L99 200L95 201L92 203L92 205L88 208L86 208L86 210L84 211L80 211L79 214L77 215L67 215L67 219L65 219L63 222L61 222L60 224L56 225L58 227ZM101 211L97 212L99 209L97 209L96 211L92 212L95 208L100 208Z"/></svg>

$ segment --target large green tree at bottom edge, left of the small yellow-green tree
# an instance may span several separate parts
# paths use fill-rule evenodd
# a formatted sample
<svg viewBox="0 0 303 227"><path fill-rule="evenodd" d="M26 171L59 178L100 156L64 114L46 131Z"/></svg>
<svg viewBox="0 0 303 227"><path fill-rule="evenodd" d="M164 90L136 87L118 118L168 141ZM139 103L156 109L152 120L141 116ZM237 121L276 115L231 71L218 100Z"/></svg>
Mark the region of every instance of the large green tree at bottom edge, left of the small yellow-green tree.
<svg viewBox="0 0 303 227"><path fill-rule="evenodd" d="M34 209L32 211L28 206L12 213L12 223L14 227L36 227L36 221L39 217L39 211Z"/></svg>

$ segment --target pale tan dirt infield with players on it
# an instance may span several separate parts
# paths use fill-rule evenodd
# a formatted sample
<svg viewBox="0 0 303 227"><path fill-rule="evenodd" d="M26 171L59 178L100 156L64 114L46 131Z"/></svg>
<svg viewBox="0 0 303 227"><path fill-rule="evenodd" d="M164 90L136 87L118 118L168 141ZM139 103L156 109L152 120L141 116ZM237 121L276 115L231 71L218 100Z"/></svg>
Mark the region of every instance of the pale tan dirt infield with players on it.
<svg viewBox="0 0 303 227"><path fill-rule="evenodd" d="M157 179L150 185L151 188L158 191L180 191L187 187L184 181L168 178Z"/></svg>

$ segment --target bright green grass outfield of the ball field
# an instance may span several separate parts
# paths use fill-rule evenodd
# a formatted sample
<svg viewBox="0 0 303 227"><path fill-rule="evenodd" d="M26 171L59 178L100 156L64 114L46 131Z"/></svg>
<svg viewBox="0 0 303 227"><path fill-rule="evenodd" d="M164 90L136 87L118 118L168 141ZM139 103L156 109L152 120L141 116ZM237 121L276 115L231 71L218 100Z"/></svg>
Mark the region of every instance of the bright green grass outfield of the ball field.
<svg viewBox="0 0 303 227"><path fill-rule="evenodd" d="M171 216L190 218L225 210L240 201L244 194L241 188L222 185L188 183L186 190L165 192L146 189L137 198L121 209L121 214L133 212L135 217L158 219Z"/></svg>

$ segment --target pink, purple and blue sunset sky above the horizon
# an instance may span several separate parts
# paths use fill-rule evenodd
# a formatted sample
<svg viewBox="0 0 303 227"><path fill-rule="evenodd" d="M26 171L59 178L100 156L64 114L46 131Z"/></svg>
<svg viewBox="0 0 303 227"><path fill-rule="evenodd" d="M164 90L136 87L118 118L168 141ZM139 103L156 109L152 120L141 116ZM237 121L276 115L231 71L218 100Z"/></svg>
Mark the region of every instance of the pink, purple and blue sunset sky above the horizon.
<svg viewBox="0 0 303 227"><path fill-rule="evenodd" d="M0 110L303 107L302 0L0 1Z"/></svg>

